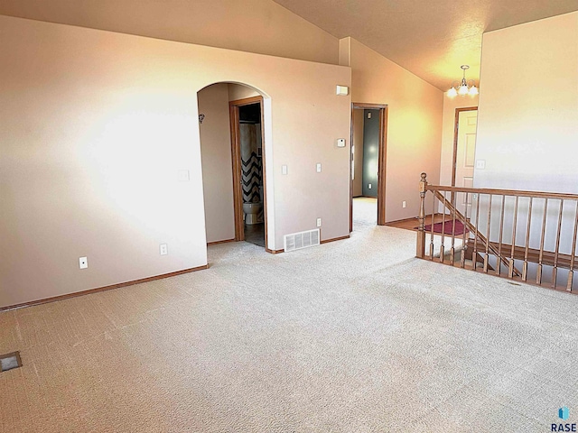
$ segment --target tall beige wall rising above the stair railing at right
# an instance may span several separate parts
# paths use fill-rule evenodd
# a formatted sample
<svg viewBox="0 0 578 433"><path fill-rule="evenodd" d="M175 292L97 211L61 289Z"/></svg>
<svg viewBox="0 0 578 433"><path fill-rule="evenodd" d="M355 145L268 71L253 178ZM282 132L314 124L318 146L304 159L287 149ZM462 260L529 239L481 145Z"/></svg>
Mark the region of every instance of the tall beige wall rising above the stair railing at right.
<svg viewBox="0 0 578 433"><path fill-rule="evenodd" d="M578 193L578 13L483 36L478 188Z"/></svg>

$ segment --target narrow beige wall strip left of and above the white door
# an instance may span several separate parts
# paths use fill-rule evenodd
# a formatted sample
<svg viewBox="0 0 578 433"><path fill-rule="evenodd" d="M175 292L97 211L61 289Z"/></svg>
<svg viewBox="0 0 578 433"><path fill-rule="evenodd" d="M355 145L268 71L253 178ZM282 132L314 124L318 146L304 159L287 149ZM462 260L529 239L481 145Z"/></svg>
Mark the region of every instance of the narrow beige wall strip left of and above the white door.
<svg viewBox="0 0 578 433"><path fill-rule="evenodd" d="M475 97L443 96L442 159L440 161L440 185L452 185L453 134L455 127L455 109L478 106ZM430 180L431 181L431 180Z"/></svg>

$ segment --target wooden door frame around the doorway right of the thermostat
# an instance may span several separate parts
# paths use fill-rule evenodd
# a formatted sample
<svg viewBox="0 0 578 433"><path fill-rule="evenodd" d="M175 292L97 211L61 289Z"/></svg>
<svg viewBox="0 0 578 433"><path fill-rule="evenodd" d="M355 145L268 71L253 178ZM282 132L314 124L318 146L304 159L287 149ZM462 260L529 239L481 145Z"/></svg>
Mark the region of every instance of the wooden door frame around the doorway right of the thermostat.
<svg viewBox="0 0 578 433"><path fill-rule="evenodd" d="M353 161L353 117L354 110L379 110L379 151L378 151L378 226L386 225L386 158L387 158L387 104L351 103L350 131L350 232L353 231L353 180L351 179L351 161Z"/></svg>

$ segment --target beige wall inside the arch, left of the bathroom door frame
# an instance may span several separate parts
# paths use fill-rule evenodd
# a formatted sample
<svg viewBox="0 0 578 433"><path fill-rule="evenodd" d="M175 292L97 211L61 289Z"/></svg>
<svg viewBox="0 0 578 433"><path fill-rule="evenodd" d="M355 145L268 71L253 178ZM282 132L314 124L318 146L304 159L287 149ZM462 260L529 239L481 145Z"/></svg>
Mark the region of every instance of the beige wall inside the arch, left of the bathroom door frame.
<svg viewBox="0 0 578 433"><path fill-rule="evenodd" d="M200 90L199 113L203 198L207 242L235 238L231 134L228 119L228 85Z"/></svg>

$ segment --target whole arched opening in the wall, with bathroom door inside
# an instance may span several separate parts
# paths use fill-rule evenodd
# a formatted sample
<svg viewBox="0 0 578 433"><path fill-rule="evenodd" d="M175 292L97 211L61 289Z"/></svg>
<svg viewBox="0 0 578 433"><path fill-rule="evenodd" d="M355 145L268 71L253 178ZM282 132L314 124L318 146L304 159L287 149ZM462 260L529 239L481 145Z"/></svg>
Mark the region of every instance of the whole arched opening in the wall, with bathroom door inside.
<svg viewBox="0 0 578 433"><path fill-rule="evenodd" d="M263 96L216 83L197 97L207 244L247 241L267 249Z"/></svg>

